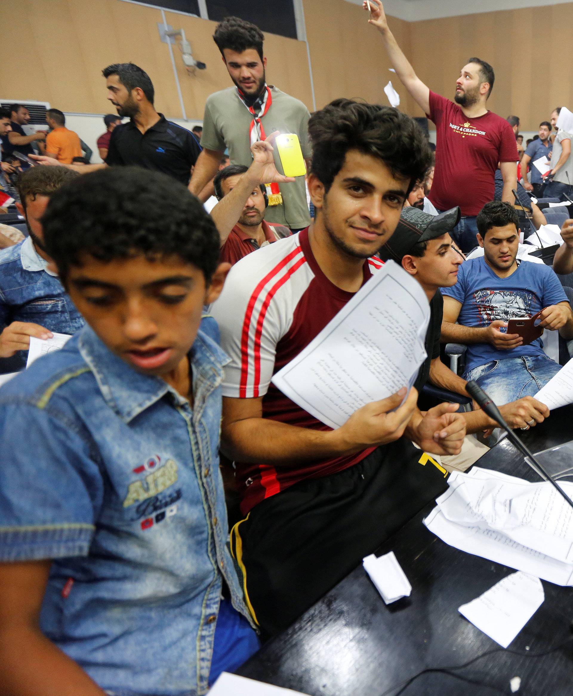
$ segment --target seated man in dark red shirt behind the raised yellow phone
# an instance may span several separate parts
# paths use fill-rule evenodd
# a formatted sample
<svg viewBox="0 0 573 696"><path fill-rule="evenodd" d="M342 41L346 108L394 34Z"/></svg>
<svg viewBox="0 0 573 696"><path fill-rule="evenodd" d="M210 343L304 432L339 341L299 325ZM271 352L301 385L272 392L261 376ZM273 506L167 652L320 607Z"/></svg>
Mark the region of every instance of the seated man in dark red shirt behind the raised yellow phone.
<svg viewBox="0 0 573 696"><path fill-rule="evenodd" d="M270 157L272 158L272 153ZM253 164L256 166L256 161L253 161ZM218 218L219 211L217 208L219 206L215 206L211 211L219 234L221 234L221 263L235 264L252 251L276 242L277 239L290 236L288 227L269 225L269 223L265 222L265 210L267 209L268 201L265 184L253 182L249 186L244 181L243 184L247 188L244 191L237 190L237 184L240 184L243 175L246 175L248 178L252 170L253 165L249 168L242 164L230 164L218 171L214 177L213 186L217 200L221 201L224 196L235 190L235 195L238 194L235 206L242 205L238 219L236 215L232 215L231 225L233 225L233 228L228 233L226 239L224 238L223 223ZM257 178L256 181L260 181L260 179Z"/></svg>

